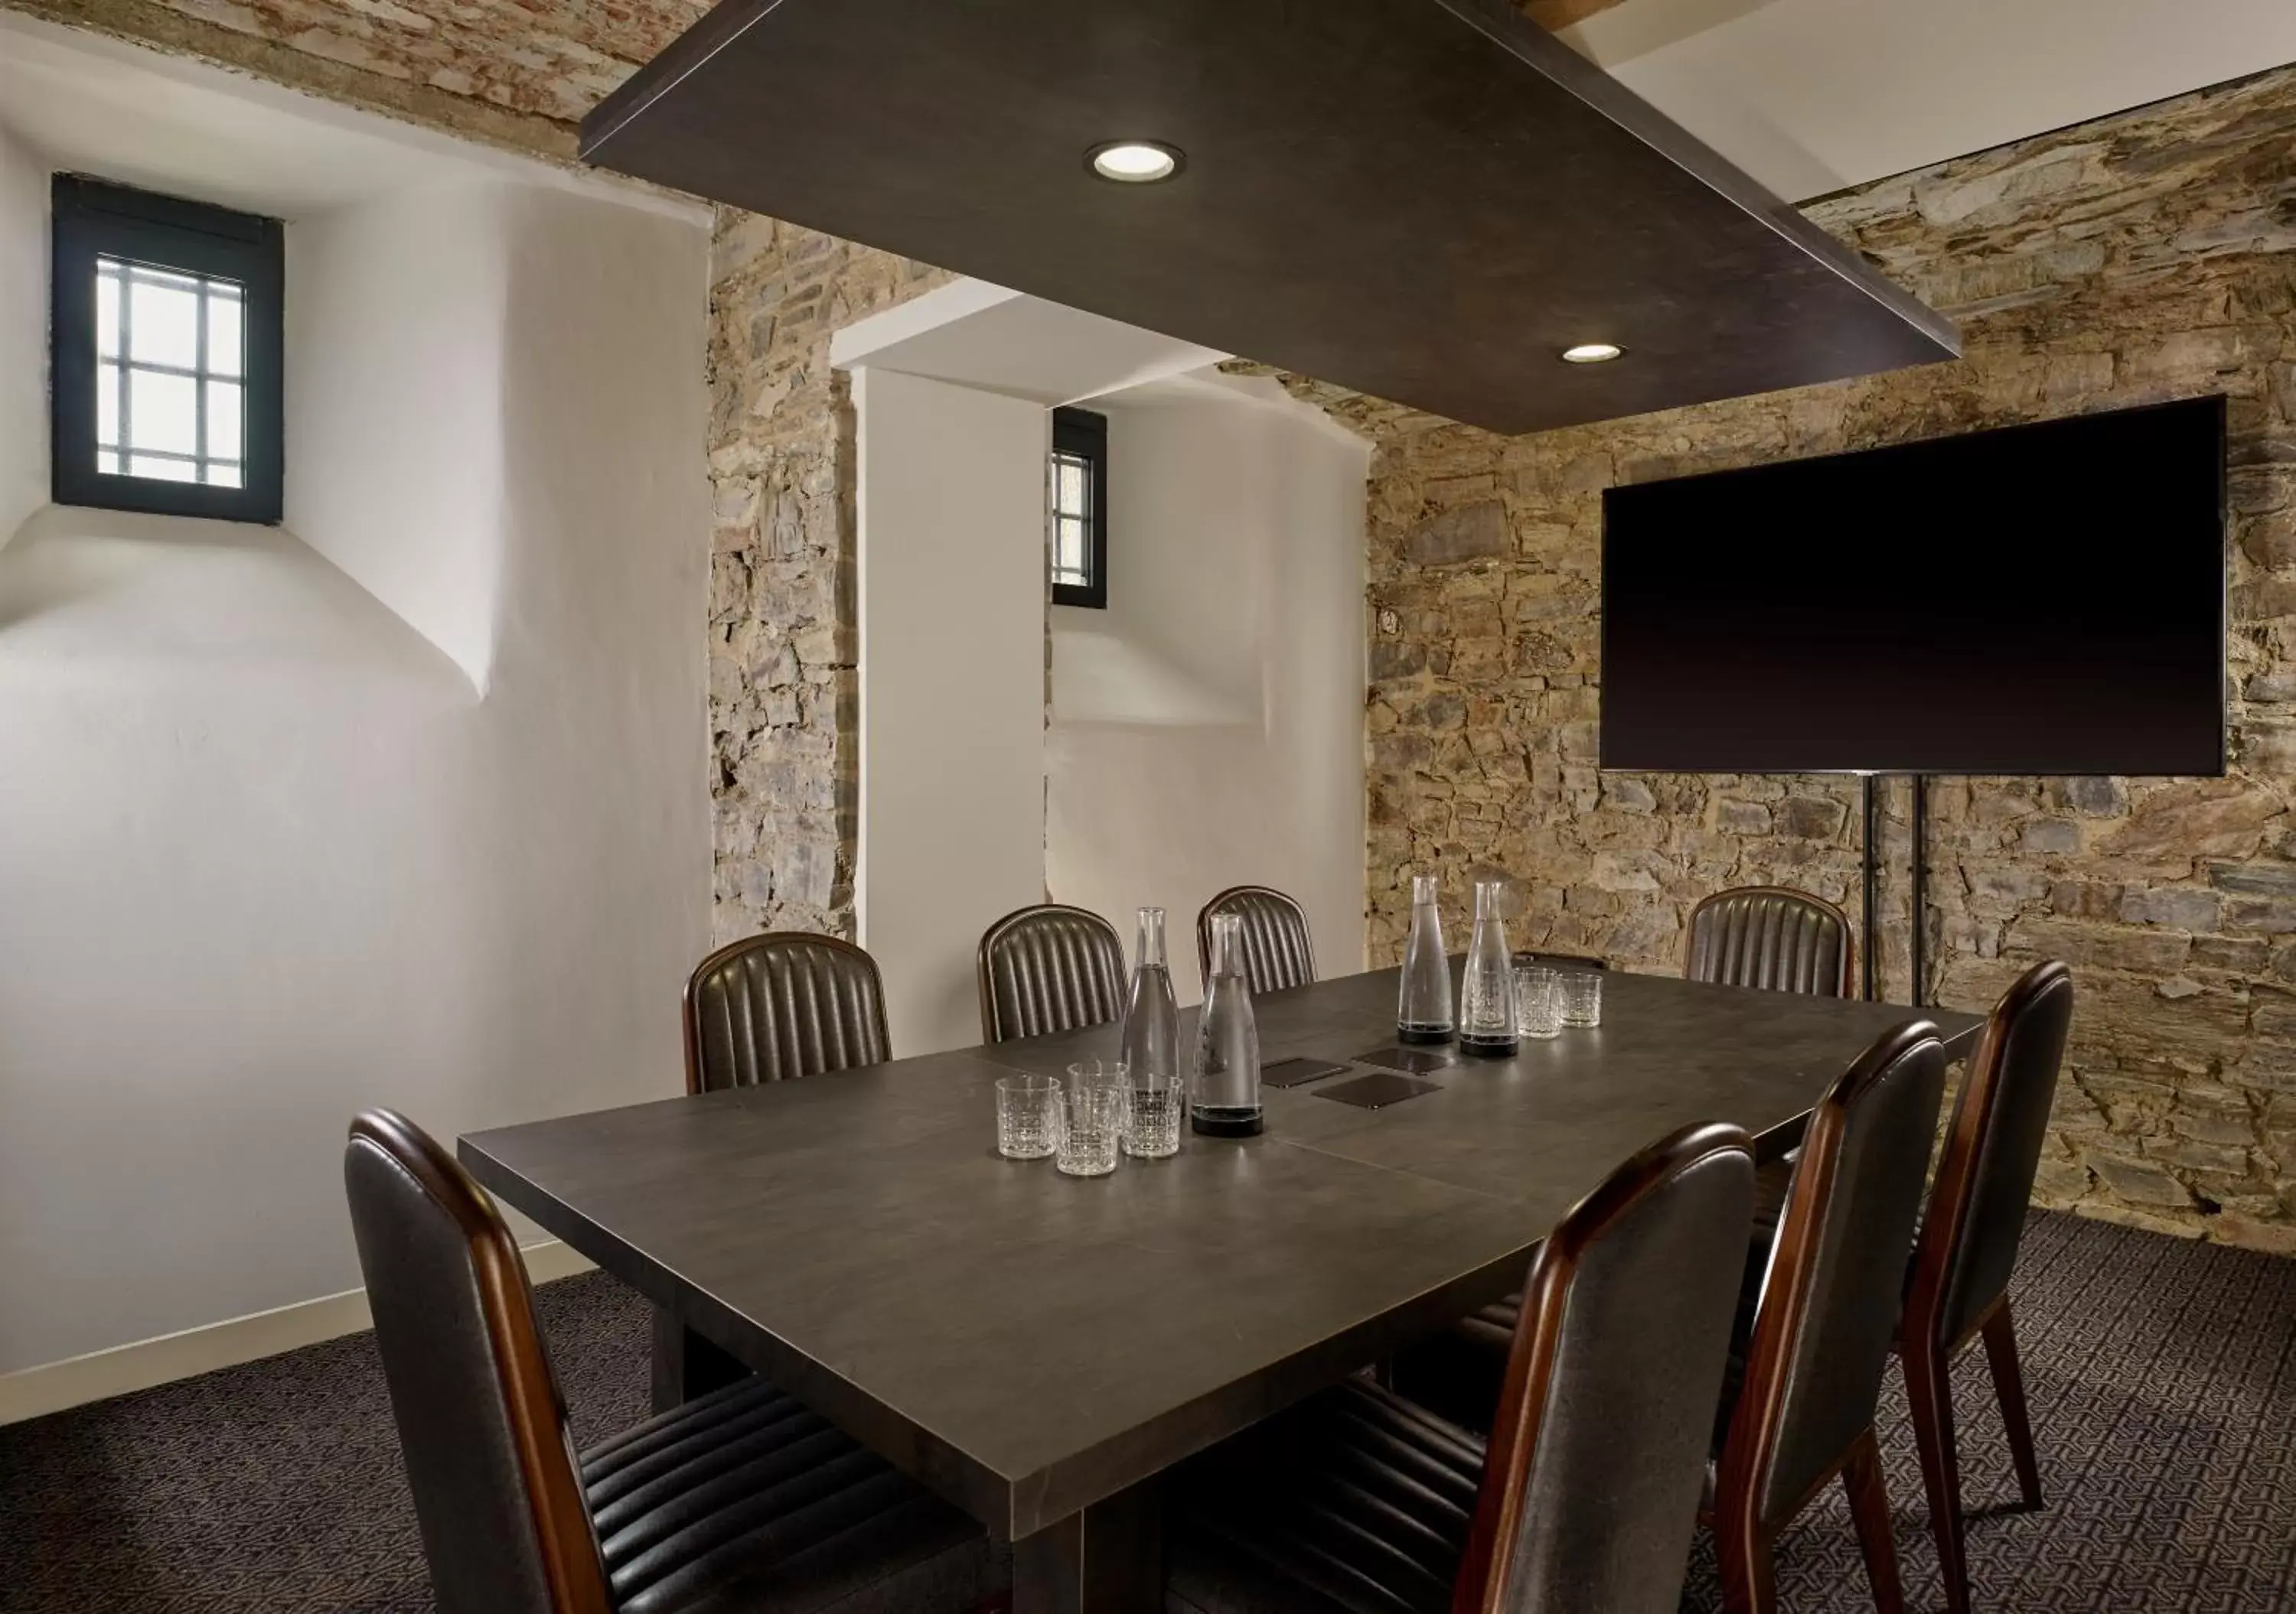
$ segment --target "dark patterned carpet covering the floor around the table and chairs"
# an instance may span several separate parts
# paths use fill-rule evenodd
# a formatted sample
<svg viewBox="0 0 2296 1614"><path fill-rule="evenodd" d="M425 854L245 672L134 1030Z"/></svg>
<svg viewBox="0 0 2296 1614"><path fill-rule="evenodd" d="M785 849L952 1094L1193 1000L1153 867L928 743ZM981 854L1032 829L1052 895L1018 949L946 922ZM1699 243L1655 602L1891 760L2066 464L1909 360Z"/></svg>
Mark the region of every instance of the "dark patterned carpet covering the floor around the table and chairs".
<svg viewBox="0 0 2296 1614"><path fill-rule="evenodd" d="M540 1293L576 1442L645 1410L645 1311ZM2296 1607L2296 1260L2034 1217L2016 1304L2048 1508L2016 1483L1981 1355L1956 1373L1977 1607ZM1913 1607L1942 1607L1903 1400L1883 1407ZM1867 1614L1839 1490L1779 1543L1795 1614ZM367 1336L0 1428L0 1609L416 1614L429 1586ZM1720 1598L1699 1550L1685 1609Z"/></svg>

